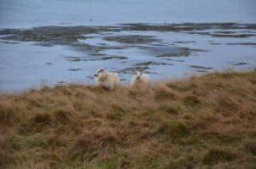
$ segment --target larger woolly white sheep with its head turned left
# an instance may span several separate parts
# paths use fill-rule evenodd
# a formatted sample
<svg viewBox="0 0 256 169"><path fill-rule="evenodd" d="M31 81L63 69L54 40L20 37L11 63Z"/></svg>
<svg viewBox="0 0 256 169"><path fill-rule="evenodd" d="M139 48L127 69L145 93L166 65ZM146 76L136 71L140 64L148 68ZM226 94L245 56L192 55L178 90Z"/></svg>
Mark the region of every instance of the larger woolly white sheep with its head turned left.
<svg viewBox="0 0 256 169"><path fill-rule="evenodd" d="M95 74L96 86L103 87L108 90L113 90L114 87L119 87L119 74L107 72L104 68L96 71Z"/></svg>

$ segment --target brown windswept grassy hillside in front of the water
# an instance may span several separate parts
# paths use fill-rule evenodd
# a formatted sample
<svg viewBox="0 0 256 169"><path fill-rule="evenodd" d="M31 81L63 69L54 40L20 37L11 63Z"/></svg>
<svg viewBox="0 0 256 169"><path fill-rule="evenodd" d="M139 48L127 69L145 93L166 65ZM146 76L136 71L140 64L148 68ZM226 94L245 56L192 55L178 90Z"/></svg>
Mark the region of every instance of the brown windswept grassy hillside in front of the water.
<svg viewBox="0 0 256 169"><path fill-rule="evenodd" d="M0 168L256 168L256 70L0 96Z"/></svg>

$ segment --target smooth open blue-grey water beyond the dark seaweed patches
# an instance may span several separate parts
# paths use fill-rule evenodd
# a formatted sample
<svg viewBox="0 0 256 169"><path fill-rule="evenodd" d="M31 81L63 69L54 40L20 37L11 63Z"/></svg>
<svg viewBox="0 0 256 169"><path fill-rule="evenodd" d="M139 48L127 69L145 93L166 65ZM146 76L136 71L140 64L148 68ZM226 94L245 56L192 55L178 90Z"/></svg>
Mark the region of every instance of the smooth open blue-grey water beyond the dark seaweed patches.
<svg viewBox="0 0 256 169"><path fill-rule="evenodd" d="M255 0L1 0L1 27L119 23L255 23Z"/></svg>

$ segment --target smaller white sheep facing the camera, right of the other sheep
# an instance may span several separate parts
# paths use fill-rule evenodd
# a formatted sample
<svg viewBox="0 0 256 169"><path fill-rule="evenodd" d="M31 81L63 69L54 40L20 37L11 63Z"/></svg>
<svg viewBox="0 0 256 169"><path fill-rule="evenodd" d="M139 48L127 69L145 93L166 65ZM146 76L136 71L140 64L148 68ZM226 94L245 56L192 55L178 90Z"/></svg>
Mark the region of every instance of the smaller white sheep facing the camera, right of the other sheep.
<svg viewBox="0 0 256 169"><path fill-rule="evenodd" d="M150 76L148 74L137 71L136 75L131 77L131 86L149 85Z"/></svg>

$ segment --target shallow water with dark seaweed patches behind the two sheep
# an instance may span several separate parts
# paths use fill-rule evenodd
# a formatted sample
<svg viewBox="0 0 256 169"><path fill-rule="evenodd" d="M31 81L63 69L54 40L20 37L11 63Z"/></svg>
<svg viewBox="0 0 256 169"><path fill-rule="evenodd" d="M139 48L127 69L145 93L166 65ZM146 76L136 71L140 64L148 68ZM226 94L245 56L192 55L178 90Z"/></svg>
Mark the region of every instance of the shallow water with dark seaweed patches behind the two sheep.
<svg viewBox="0 0 256 169"><path fill-rule="evenodd" d="M93 83L100 68L124 83L256 67L256 25L236 23L42 26L0 30L1 90Z"/></svg>

